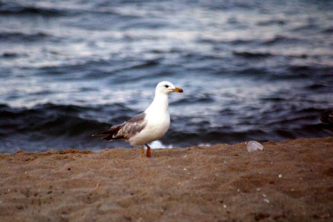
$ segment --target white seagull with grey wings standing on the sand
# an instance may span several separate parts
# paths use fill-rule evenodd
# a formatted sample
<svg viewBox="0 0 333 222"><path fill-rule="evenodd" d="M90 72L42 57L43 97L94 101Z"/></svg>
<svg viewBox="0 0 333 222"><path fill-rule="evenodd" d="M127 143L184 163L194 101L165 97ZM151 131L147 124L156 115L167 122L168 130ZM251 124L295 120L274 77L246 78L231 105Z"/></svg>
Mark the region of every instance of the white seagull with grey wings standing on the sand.
<svg viewBox="0 0 333 222"><path fill-rule="evenodd" d="M147 143L160 139L169 130L169 94L171 92L183 91L167 81L158 83L155 98L144 112L120 125L112 126L110 130L95 133L92 137L102 136L102 139L107 141L121 139L132 146L141 146L142 156L144 156L144 145L146 145L146 156L151 157L151 147Z"/></svg>

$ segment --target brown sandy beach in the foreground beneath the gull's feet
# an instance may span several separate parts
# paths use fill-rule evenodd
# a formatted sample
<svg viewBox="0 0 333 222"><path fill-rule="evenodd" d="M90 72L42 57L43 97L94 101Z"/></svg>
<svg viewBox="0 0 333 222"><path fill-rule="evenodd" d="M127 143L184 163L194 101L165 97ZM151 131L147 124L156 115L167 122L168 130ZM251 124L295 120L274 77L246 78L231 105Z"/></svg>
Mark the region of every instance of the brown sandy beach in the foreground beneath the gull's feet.
<svg viewBox="0 0 333 222"><path fill-rule="evenodd" d="M0 155L0 221L333 221L333 137Z"/></svg>

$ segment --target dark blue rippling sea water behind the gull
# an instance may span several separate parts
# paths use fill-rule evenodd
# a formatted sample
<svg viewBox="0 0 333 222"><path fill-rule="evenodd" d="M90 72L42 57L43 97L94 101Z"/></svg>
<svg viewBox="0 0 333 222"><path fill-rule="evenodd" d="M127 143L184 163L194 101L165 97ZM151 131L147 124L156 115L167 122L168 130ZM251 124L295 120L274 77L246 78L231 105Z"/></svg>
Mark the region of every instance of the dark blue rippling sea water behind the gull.
<svg viewBox="0 0 333 222"><path fill-rule="evenodd" d="M333 1L0 0L0 153L130 147L92 133L170 95L163 146L333 136Z"/></svg>

